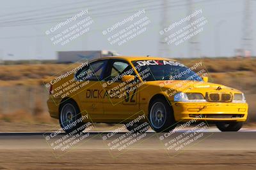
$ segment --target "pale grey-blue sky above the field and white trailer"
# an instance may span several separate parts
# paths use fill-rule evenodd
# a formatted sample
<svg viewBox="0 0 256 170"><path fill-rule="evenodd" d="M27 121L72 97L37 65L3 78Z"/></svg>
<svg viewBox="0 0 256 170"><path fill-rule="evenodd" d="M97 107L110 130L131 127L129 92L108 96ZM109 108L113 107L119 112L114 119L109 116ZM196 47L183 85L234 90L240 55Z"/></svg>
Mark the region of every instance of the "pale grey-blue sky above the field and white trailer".
<svg viewBox="0 0 256 170"><path fill-rule="evenodd" d="M198 57L230 57L235 55L237 48L242 47L244 1L194 0L189 8L188 0L0 0L0 59L56 59L58 51L79 50L114 50L121 55L161 55L170 58L193 57L194 54ZM250 7L255 9L256 1L251 0L250 3ZM163 43L165 36L189 23L181 24L163 36L159 31L201 9L202 13L198 17L204 17L207 23L202 26L203 31L193 37L196 39L196 51L191 51L189 41L180 45ZM86 16L93 20L90 31L66 45L54 45L51 41L53 34L47 35L45 31L82 10L88 10ZM108 35L102 34L102 31L141 10L145 10L145 13L138 19L147 17L150 20L150 24L146 25L147 30L122 45L111 45L109 36L136 20L108 32ZM249 32L253 38L252 47L255 48L253 28L256 14L252 11L250 15ZM164 49L164 53L161 49Z"/></svg>

